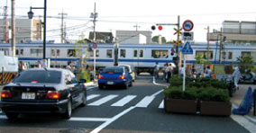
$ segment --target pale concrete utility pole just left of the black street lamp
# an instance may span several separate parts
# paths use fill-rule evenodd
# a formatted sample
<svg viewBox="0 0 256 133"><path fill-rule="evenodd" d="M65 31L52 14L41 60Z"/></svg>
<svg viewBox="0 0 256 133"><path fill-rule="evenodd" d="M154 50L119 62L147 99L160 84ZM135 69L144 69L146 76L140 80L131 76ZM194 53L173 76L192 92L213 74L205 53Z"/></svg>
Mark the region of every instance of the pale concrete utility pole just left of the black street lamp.
<svg viewBox="0 0 256 133"><path fill-rule="evenodd" d="M16 41L15 41L15 0L12 0L12 56L16 54Z"/></svg>

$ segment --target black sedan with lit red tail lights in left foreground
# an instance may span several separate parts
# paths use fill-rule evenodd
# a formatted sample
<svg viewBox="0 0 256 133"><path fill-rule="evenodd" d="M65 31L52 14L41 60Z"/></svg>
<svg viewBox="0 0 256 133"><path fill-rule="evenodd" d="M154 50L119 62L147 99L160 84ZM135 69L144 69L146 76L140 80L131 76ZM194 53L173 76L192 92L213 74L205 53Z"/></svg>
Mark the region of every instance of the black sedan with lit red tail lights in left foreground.
<svg viewBox="0 0 256 133"><path fill-rule="evenodd" d="M16 76L1 92L0 107L8 119L20 113L58 112L65 119L87 102L86 80L67 69L33 68Z"/></svg>

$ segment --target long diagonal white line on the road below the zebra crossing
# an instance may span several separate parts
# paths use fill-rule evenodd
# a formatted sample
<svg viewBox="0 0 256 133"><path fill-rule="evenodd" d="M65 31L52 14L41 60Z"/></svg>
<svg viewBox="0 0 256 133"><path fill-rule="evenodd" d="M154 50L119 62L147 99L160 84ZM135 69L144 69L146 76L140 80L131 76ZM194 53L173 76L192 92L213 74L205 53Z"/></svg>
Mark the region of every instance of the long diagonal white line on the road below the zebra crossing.
<svg viewBox="0 0 256 133"><path fill-rule="evenodd" d="M119 114L117 114L116 116L114 116L112 119L105 121L105 123L101 124L99 127L97 127L96 129L94 129L93 131L91 131L90 133L98 133L99 131L101 131L102 129L105 129L105 127L107 127L109 124L111 124L112 122L114 122L114 120L118 120L119 118L121 118L124 114L128 113L129 111L132 111L133 109L135 109L135 107L130 107L122 112L120 112Z"/></svg>

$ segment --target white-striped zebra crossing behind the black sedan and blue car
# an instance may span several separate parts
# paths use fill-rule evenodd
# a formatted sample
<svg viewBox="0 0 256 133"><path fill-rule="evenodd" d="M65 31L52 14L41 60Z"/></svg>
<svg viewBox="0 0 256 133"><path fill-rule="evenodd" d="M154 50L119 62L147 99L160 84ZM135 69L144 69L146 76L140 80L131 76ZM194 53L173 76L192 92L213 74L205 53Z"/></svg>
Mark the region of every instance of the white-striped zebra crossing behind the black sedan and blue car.
<svg viewBox="0 0 256 133"><path fill-rule="evenodd" d="M129 102L132 102L133 100L135 100L136 98L138 98L137 95L120 96L118 94L109 94L109 95L102 96L101 94L90 94L90 95L87 95L87 106L101 106L104 104L108 104L107 102L114 102L110 104L111 107L123 107L127 105ZM151 104L151 102L155 100L155 98L156 98L155 96L145 96L135 104L135 107L147 108ZM95 99L96 101L93 101ZM160 105L158 106L158 108L163 109L163 101L160 102Z"/></svg>

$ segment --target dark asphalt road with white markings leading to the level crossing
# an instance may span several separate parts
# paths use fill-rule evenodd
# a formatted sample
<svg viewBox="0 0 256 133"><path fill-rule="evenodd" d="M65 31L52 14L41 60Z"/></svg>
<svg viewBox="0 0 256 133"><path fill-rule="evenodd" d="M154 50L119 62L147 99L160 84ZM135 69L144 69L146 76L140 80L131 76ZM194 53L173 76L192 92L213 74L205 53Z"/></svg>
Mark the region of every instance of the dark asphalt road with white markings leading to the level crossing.
<svg viewBox="0 0 256 133"><path fill-rule="evenodd" d="M162 89L150 75L139 76L127 90L87 88L87 106L73 111L70 120L56 114L21 115L7 120L0 114L0 133L247 133L231 117L166 113Z"/></svg>

